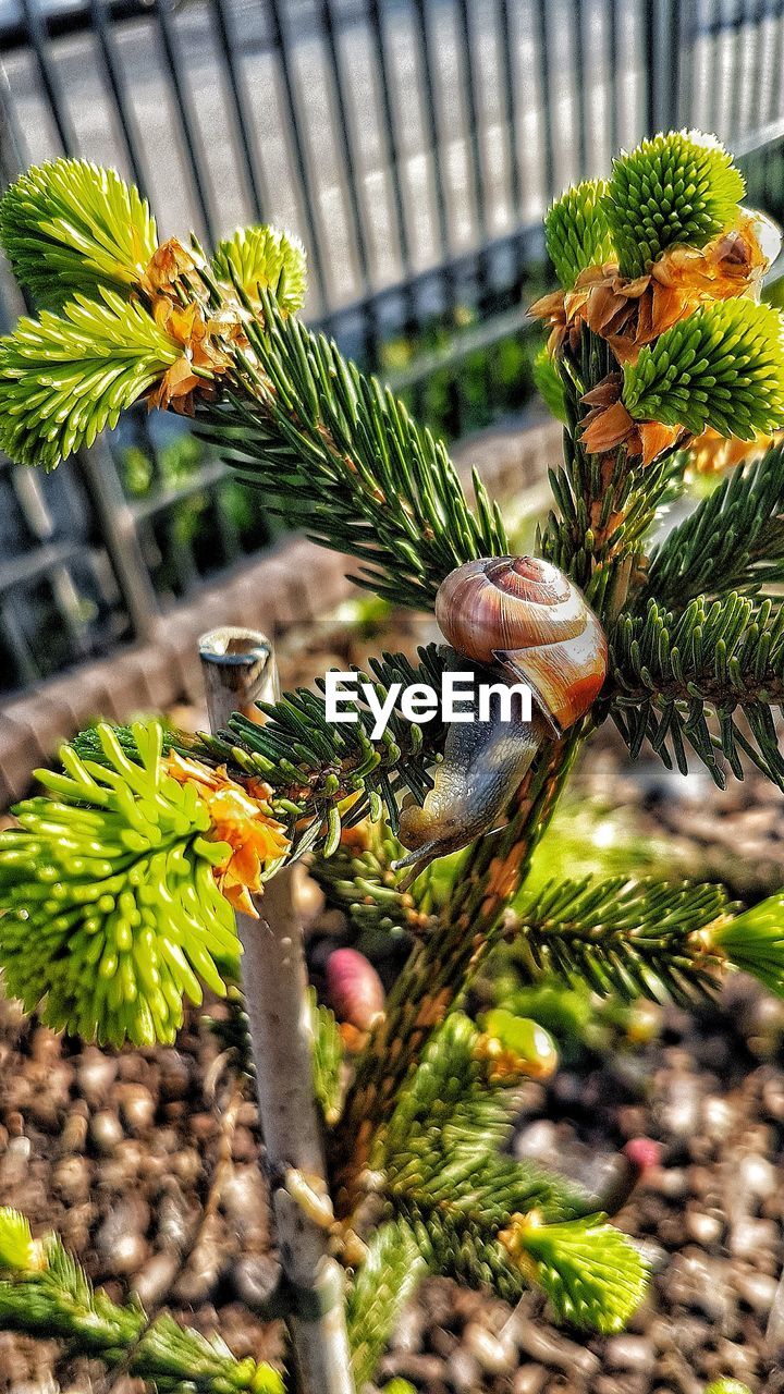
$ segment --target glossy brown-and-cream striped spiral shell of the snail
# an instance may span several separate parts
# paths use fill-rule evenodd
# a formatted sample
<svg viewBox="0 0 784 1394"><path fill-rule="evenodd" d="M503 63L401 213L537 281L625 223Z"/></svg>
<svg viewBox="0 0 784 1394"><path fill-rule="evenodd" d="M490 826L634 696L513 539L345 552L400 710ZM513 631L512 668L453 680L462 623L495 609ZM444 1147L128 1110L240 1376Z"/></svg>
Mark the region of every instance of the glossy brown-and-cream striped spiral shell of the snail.
<svg viewBox="0 0 784 1394"><path fill-rule="evenodd" d="M452 572L435 597L445 638L477 664L526 682L561 736L598 697L607 640L576 585L536 556L494 556Z"/></svg>

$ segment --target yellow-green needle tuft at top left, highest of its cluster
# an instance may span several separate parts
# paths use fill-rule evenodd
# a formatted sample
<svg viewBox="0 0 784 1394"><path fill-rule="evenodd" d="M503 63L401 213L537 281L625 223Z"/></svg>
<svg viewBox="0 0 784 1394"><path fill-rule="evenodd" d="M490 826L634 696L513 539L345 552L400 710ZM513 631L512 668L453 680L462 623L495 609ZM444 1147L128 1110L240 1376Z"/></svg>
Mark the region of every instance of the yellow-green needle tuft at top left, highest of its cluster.
<svg viewBox="0 0 784 1394"><path fill-rule="evenodd" d="M146 199L116 170L60 159L35 166L7 190L0 243L36 304L60 309L78 291L127 296L158 233Z"/></svg>

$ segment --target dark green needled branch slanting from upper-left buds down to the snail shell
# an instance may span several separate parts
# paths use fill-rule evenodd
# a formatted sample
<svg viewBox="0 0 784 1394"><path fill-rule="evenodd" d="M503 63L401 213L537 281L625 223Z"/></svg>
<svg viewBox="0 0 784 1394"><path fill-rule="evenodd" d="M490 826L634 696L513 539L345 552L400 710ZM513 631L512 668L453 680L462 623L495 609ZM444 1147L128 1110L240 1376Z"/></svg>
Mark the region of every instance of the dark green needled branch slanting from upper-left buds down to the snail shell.
<svg viewBox="0 0 784 1394"><path fill-rule="evenodd" d="M264 328L247 325L246 393L202 404L199 422L265 507L360 558L360 584L402 605L430 608L455 566L505 555L478 478L474 514L445 446L389 389L286 319L269 293L261 309Z"/></svg>

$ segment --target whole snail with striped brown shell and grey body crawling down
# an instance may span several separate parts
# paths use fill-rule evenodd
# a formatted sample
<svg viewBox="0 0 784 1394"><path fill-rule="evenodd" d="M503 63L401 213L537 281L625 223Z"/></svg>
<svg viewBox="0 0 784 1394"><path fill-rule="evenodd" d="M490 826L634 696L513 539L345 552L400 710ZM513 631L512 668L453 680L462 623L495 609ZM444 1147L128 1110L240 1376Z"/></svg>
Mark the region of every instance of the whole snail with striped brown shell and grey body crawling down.
<svg viewBox="0 0 784 1394"><path fill-rule="evenodd" d="M423 866L495 831L544 740L559 739L598 696L607 673L607 640L582 592L557 566L533 556L483 558L459 566L441 584L435 619L452 647L446 666L465 659L494 684L526 683L530 721L449 725L444 760L424 804L407 802L398 866ZM490 673L487 672L490 669Z"/></svg>

